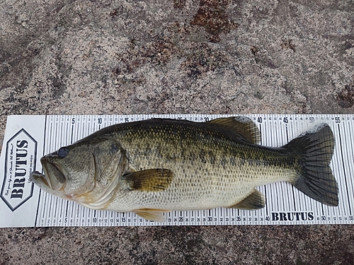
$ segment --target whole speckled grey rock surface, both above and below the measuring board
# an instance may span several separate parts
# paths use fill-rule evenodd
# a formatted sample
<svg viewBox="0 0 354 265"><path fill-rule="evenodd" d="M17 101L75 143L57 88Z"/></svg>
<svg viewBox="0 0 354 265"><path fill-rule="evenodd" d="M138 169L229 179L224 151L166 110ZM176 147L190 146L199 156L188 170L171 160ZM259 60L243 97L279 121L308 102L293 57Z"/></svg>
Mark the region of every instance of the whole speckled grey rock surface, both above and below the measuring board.
<svg viewBox="0 0 354 265"><path fill-rule="evenodd" d="M10 1L10 114L353 113L354 2ZM0 264L353 264L353 225L1 229Z"/></svg>

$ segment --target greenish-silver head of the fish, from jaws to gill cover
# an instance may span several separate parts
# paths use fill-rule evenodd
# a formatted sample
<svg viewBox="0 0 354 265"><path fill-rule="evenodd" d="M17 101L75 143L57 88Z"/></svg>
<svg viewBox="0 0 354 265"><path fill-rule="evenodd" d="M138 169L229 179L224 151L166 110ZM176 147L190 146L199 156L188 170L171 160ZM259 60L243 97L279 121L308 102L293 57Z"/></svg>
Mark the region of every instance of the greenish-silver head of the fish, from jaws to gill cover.
<svg viewBox="0 0 354 265"><path fill-rule="evenodd" d="M105 137L63 146L40 163L44 174L32 172L30 179L41 189L81 204L97 204L96 208L109 201L129 165L120 144Z"/></svg>

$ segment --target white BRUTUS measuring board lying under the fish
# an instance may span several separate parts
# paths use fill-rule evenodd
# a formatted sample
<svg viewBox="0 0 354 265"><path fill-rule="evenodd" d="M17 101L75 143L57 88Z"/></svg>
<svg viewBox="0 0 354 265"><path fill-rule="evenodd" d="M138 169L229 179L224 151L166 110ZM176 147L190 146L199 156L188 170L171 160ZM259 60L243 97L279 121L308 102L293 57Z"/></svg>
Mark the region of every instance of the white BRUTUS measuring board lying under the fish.
<svg viewBox="0 0 354 265"><path fill-rule="evenodd" d="M354 224L354 115L352 114L251 114L261 131L261 144L282 146L316 124L331 126L336 148L331 160L339 187L338 207L325 206L286 182L258 187L265 194L265 208L256 211L216 208L205 211L165 213L163 223L135 213L96 211L40 190L28 180L41 171L42 155L121 122L156 117L205 122L235 115L73 115L10 116L0 160L0 227L121 226L121 225L295 225Z"/></svg>

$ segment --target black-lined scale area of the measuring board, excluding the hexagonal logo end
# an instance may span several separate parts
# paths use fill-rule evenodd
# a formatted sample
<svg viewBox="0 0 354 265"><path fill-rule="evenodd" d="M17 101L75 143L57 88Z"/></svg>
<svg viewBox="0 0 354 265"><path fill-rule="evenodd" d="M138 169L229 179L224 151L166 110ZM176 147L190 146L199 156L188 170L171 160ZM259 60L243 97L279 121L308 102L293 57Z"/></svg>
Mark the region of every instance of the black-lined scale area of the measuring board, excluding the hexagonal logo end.
<svg viewBox="0 0 354 265"><path fill-rule="evenodd" d="M215 119L219 117L229 117L229 115L198 115L198 114L181 114L181 115L89 115L89 116L48 116L45 118L45 142L43 143L43 153L50 153L57 150L60 146L67 145L78 141L81 138L93 133L103 126L115 124L117 122L138 121L143 119L149 119L151 117L181 117L182 119L197 120L198 122L204 122L206 120ZM264 146L283 146L286 143L295 139L299 134L311 129L314 122L326 122L329 124L336 136L336 158L332 160L331 167L333 168L333 174L337 177L338 184L343 194L343 203L340 208L331 208L318 203L309 197L305 196L302 192L295 189L292 185L286 182L278 184L268 184L257 189L265 194L265 198L269 196L267 200L267 206L258 211L244 211L231 208L217 208L212 211L182 211L176 213L175 218L171 218L171 213L166 213L166 223L150 222L149 220L140 220L139 216L134 213L99 213L99 217L96 222L93 222L91 218L91 210L85 209L76 203L69 202L64 204L64 200L57 197L48 196L48 194L39 191L37 213L35 219L35 226L47 226L47 225L66 225L64 218L65 206L70 206L69 222L67 225L226 225L226 224L296 224L296 223L353 223L353 216L351 212L353 201L353 145L352 136L353 132L353 117L352 115L250 115L253 122L256 122L259 130L261 131L261 144ZM263 117L262 122L258 122L258 117ZM338 117L341 122L338 121ZM350 117L351 120L350 120ZM287 118L287 122L285 122ZM290 119L291 118L291 119ZM295 119L297 118L297 119ZM85 121L86 119L86 121ZM348 122L346 122L348 121ZM350 122L349 122L350 121ZM66 131L66 133L64 133ZM80 133L81 132L81 133ZM80 136L81 134L81 136ZM49 141L49 143L48 143ZM333 157L334 158L334 157ZM341 172L341 173L340 173ZM292 187L290 189L290 187ZM287 197L286 197L287 196ZM278 201L282 199L282 201ZM276 201L275 201L276 200ZM340 201L341 202L341 201ZM270 207L270 208L269 208ZM269 209L268 209L269 208ZM271 213L268 213L268 210ZM295 218L291 220L273 221L262 219L271 215L272 212L304 212L314 213L314 220L309 220L308 216L304 217L304 220L300 217L300 220L295 221ZM346 213L348 211L348 213ZM96 213L96 211L94 211ZM101 212L101 211L100 211ZM202 212L205 216L205 220L198 223L198 215ZM74 215L73 215L74 214ZM114 217L114 215L116 217ZM195 216L194 216L195 215ZM346 217L345 218L342 218ZM349 215L349 216L348 216ZM40 218L41 216L41 218ZM75 216L75 218L74 218ZM125 222L122 221L122 216L125 217ZM236 216L241 216L239 221L236 220ZM321 216L325 218L322 219ZM178 218L181 217L181 222ZM320 217L317 219L316 217ZM79 220L78 220L79 218ZM171 218L171 222L167 219ZM234 220L232 220L234 218ZM246 219L244 219L246 218ZM272 218L270 216L270 218ZM119 223L116 222L116 219ZM43 222L43 220L45 222ZM90 221L89 221L90 220ZM263 221L264 220L264 221Z"/></svg>

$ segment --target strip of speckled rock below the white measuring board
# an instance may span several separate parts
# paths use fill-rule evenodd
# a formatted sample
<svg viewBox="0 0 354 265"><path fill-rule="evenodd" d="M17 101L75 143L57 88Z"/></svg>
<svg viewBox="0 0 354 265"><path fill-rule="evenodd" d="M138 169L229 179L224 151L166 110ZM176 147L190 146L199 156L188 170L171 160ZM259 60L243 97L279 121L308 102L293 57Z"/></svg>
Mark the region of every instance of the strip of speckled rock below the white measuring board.
<svg viewBox="0 0 354 265"><path fill-rule="evenodd" d="M353 264L348 225L8 228L1 264Z"/></svg>

